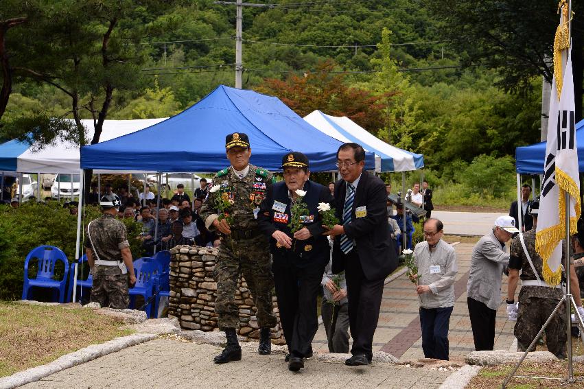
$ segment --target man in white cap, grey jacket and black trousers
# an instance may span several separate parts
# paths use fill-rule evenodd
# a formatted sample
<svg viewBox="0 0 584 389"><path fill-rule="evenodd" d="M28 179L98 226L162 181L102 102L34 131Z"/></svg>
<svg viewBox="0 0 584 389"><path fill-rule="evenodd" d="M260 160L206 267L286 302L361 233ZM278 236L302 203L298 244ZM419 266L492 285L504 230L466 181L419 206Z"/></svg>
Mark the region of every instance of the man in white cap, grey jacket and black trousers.
<svg viewBox="0 0 584 389"><path fill-rule="evenodd" d="M495 316L502 300L503 271L509 263L505 244L518 232L513 217L500 216L493 231L472 250L467 303L476 351L493 350L495 345Z"/></svg>

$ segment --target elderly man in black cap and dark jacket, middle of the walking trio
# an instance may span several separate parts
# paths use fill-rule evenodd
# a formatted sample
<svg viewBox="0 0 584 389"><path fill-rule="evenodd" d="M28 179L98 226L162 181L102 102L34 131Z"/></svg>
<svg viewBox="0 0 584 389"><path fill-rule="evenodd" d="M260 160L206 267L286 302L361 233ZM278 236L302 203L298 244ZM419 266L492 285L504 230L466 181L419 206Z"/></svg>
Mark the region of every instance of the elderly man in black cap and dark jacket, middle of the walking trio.
<svg viewBox="0 0 584 389"><path fill-rule="evenodd" d="M284 180L268 186L257 224L271 237L278 309L290 353L288 368L298 371L304 367L303 358L312 355L312 339L318 330L316 297L331 250L317 207L319 202L331 203L332 196L327 187L308 180L308 158L304 154L286 154L282 169ZM297 231L292 232L289 224L294 204L305 204L307 212L301 216Z"/></svg>

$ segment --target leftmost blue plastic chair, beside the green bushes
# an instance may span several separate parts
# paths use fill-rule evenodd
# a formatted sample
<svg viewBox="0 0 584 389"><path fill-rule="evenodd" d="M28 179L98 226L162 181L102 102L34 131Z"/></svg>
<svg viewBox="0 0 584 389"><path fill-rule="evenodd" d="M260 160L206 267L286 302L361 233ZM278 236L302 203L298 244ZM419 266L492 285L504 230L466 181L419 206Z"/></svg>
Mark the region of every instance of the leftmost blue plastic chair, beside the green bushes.
<svg viewBox="0 0 584 389"><path fill-rule="evenodd" d="M38 272L35 279L28 277L30 262L37 259ZM64 266L63 279L55 279L55 266L61 261ZM27 300L32 287L44 287L58 292L58 302L65 303L65 288L67 287L67 275L69 274L69 261L67 255L60 248L54 246L38 246L33 248L24 261L24 284L22 299Z"/></svg>

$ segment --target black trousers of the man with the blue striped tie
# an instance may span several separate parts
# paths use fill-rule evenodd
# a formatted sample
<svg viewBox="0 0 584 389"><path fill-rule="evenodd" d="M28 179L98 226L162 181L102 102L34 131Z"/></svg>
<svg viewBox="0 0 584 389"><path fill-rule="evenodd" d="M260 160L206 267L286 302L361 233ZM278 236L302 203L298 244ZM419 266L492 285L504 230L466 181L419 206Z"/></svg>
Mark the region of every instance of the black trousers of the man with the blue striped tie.
<svg viewBox="0 0 584 389"><path fill-rule="evenodd" d="M353 337L351 354L373 357L373 335L379 320L385 279L366 279L356 249L349 251L345 261L349 326Z"/></svg>

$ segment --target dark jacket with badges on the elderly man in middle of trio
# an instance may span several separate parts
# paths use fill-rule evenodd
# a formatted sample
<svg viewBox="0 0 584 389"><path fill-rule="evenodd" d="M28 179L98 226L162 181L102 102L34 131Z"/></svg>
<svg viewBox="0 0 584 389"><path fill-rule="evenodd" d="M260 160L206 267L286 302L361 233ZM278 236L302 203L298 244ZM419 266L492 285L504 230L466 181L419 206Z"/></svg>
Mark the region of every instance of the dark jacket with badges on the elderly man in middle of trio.
<svg viewBox="0 0 584 389"><path fill-rule="evenodd" d="M275 263L283 265L294 264L301 268L323 268L329 263L331 247L329 246L328 238L323 235L325 228L323 228L323 223L320 221L316 207L318 207L319 202L328 202L329 204L332 202L331 191L327 187L310 180L305 182L303 190L306 191L306 196L304 196L303 200L307 204L309 216L312 217L312 221L307 222L305 226L312 237L296 241L293 243L292 248L276 246L276 239L272 238L272 234L275 231L282 231L289 237L294 235L290 231L290 227L288 227L291 217L290 197L288 196L288 187L283 181L268 185L266 198L259 205L257 225L263 233L270 237L270 251ZM284 212L274 209L275 201L285 204ZM275 213L284 213L287 215L288 220L284 221L281 217L275 217Z"/></svg>

